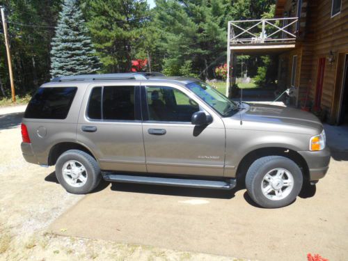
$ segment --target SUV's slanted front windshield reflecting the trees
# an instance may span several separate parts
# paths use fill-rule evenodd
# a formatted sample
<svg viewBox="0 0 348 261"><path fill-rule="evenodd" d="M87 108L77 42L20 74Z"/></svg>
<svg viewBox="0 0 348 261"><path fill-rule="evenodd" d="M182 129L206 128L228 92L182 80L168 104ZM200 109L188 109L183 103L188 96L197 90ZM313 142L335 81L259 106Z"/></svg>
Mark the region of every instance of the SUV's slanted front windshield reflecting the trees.
<svg viewBox="0 0 348 261"><path fill-rule="evenodd" d="M223 117L232 116L234 111L237 110L237 104L229 100L225 95L219 93L219 91L215 90L212 86L209 86L209 84L205 84L203 81L195 81L191 84L187 84L187 88L212 106L212 108Z"/></svg>

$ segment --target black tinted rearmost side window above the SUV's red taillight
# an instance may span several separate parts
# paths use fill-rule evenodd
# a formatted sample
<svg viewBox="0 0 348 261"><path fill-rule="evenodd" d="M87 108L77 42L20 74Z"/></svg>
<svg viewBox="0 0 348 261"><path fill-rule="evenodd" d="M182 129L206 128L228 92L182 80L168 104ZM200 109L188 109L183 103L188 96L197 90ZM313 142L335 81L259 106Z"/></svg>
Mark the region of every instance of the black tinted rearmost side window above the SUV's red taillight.
<svg viewBox="0 0 348 261"><path fill-rule="evenodd" d="M77 87L39 88L31 98L24 118L63 120L68 116Z"/></svg>

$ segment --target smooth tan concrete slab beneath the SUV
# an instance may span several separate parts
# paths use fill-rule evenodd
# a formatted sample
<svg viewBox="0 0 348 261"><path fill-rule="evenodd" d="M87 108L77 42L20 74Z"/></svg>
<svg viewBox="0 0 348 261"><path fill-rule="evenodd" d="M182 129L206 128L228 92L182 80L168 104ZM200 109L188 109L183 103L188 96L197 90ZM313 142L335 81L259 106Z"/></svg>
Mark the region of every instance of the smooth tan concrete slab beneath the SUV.
<svg viewBox="0 0 348 261"><path fill-rule="evenodd" d="M257 260L306 260L307 253L345 260L347 176L348 161L333 160L317 187L281 209L256 207L244 189L114 183L87 195L49 231Z"/></svg>

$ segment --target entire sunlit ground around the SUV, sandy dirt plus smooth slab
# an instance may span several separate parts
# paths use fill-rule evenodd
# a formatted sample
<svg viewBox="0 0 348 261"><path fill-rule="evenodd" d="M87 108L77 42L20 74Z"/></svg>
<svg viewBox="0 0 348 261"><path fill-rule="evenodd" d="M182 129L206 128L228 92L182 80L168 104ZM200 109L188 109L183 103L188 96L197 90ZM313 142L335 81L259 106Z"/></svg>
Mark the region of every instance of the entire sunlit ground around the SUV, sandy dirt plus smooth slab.
<svg viewBox="0 0 348 261"><path fill-rule="evenodd" d="M21 111L0 109L0 260L347 260L348 150L282 209L256 207L245 189L103 182L76 196L22 158Z"/></svg>

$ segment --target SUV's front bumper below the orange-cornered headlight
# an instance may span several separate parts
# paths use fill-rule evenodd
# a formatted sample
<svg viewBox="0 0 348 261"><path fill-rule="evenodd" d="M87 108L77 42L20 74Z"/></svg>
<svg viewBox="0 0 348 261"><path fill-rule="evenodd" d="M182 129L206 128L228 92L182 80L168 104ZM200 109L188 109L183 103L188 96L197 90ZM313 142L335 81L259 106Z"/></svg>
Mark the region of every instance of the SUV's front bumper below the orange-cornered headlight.
<svg viewBox="0 0 348 261"><path fill-rule="evenodd" d="M307 162L310 181L319 180L326 175L331 158L329 148L319 151L299 151L299 154Z"/></svg>

